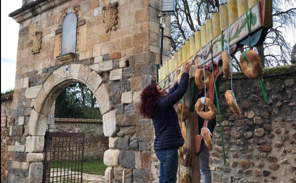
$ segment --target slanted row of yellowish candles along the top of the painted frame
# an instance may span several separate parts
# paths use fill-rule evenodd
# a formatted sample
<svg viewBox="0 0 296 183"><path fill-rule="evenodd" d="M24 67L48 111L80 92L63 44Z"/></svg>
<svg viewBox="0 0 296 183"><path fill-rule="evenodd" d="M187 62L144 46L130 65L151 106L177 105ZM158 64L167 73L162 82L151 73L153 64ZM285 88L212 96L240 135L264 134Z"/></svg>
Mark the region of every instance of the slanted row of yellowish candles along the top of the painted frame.
<svg viewBox="0 0 296 183"><path fill-rule="evenodd" d="M175 71L183 63L189 60L196 52L204 47L207 42L218 36L222 30L233 23L239 16L243 15L249 8L255 5L259 0L228 0L226 5L224 0L221 0L221 5L215 7L215 12L207 16L205 24L194 35L185 41L185 44L178 49L171 58L163 64L158 70L159 81L162 81L170 73Z"/></svg>

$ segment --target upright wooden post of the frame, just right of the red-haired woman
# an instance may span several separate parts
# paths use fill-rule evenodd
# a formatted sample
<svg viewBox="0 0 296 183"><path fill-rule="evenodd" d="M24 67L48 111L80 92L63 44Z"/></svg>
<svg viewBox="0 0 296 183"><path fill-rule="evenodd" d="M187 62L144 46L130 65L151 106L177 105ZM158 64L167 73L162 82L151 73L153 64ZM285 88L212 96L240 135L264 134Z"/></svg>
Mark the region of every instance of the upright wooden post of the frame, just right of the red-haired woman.
<svg viewBox="0 0 296 183"><path fill-rule="evenodd" d="M185 103L189 106L189 89L185 94ZM186 143L191 153L191 165L187 171L191 177L192 183L200 183L200 157L195 155L194 137L198 134L198 116L197 113L189 112L189 118L186 120Z"/></svg>

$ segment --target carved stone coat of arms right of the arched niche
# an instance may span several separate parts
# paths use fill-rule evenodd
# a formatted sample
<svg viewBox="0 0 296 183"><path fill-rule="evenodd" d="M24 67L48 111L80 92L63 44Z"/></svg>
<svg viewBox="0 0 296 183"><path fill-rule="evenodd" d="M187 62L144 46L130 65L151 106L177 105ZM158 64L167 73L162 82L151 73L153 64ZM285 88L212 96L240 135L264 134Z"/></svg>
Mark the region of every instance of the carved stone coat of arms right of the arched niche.
<svg viewBox="0 0 296 183"><path fill-rule="evenodd" d="M118 10L117 10L117 2L107 4L103 7L104 12L104 20L106 33L109 32L109 30L115 31L117 29L117 23L118 23Z"/></svg>

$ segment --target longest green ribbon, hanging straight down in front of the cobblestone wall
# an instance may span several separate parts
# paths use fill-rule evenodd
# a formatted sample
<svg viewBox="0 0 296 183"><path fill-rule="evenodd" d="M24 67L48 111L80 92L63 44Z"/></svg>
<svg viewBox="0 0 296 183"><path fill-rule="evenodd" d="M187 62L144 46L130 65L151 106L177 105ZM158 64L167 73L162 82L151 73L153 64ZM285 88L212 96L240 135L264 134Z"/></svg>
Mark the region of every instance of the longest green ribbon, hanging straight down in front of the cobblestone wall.
<svg viewBox="0 0 296 183"><path fill-rule="evenodd" d="M217 92L217 86L216 86L216 81L215 81L215 73L214 73L213 43L212 43L212 40L211 40L211 55L212 55L212 73L213 73L215 96L216 96L216 103L217 103L217 111L218 111L218 116L219 116L219 127L220 127L220 134L221 134L221 146L222 146L222 149L223 149L224 165L226 165L226 154L225 154L225 147L224 147L223 129L222 129L221 114L220 114L220 107L219 107L219 101L218 101L218 92Z"/></svg>

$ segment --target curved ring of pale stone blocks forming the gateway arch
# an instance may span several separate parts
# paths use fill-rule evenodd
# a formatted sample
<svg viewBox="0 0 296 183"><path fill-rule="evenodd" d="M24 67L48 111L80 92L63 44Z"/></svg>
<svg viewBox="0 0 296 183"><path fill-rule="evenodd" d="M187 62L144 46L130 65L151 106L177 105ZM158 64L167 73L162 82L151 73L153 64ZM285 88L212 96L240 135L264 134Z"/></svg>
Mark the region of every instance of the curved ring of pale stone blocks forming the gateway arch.
<svg viewBox="0 0 296 183"><path fill-rule="evenodd" d="M104 135L111 137L117 134L119 131L116 125L117 114L110 97L111 91L108 83L102 83L102 77L95 71L91 71L89 66L69 64L55 70L39 90L29 120L29 133L31 135L45 135L53 102L65 87L74 82L82 82L94 93L103 115Z"/></svg>

